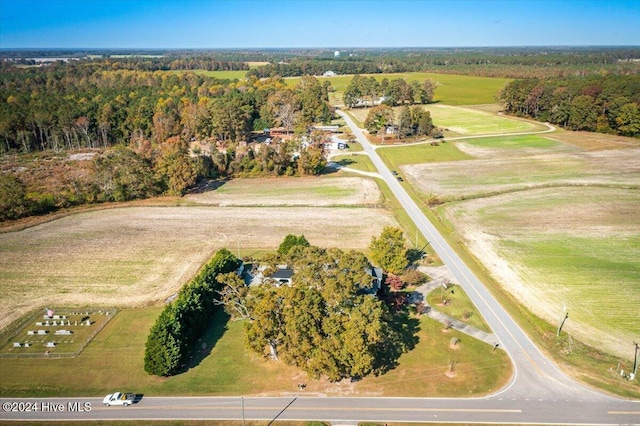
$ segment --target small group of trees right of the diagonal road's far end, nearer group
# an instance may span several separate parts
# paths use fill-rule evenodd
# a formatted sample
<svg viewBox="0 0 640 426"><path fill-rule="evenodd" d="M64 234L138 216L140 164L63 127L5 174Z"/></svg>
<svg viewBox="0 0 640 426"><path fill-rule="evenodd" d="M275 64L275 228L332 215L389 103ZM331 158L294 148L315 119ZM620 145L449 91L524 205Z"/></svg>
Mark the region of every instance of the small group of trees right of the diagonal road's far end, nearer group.
<svg viewBox="0 0 640 426"><path fill-rule="evenodd" d="M370 134L386 133L388 127L396 129L398 138L407 137L442 137L442 132L433 125L431 113L419 105L404 106L396 116L396 111L388 105L378 105L367 114L364 127Z"/></svg>

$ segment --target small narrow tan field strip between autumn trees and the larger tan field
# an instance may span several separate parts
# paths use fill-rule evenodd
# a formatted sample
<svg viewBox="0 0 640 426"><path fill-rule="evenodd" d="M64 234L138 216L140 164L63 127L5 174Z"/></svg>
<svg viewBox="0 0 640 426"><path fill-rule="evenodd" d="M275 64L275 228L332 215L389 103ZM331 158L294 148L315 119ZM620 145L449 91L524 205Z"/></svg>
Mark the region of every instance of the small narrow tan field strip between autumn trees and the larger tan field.
<svg viewBox="0 0 640 426"><path fill-rule="evenodd" d="M344 206L377 204L380 196L371 179L301 177L233 179L215 191L185 198L219 206Z"/></svg>

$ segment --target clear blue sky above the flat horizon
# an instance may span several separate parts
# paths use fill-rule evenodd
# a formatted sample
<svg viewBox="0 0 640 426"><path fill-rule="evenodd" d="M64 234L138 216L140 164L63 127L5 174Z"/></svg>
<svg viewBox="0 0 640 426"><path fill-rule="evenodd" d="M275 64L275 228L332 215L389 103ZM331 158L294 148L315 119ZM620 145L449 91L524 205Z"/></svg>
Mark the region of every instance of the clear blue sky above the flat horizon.
<svg viewBox="0 0 640 426"><path fill-rule="evenodd" d="M640 45L640 1L0 0L0 48Z"/></svg>

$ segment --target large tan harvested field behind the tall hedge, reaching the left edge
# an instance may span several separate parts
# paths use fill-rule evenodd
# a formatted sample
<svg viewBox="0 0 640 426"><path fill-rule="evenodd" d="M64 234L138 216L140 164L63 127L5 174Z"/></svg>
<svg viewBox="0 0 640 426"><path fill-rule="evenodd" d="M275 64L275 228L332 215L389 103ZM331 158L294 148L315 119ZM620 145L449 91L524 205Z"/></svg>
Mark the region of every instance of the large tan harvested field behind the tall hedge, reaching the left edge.
<svg viewBox="0 0 640 426"><path fill-rule="evenodd" d="M351 200L369 197L378 198L358 192ZM306 196L311 205L325 198ZM127 207L66 216L0 234L0 328L54 302L158 303L221 247L246 255L274 249L294 233L315 245L362 250L388 225L397 226L390 213L365 207Z"/></svg>

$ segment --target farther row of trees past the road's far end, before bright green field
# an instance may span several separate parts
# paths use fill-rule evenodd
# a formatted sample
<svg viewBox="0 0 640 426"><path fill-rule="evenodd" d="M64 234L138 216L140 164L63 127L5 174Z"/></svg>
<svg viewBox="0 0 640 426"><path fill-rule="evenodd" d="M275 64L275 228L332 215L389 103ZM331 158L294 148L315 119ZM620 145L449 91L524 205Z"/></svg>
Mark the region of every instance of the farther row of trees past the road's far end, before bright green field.
<svg viewBox="0 0 640 426"><path fill-rule="evenodd" d="M433 102L436 85L429 79L420 84L417 81L407 83L403 78L378 82L375 77L354 75L344 91L343 99L347 107L373 106L379 99L389 106Z"/></svg>

